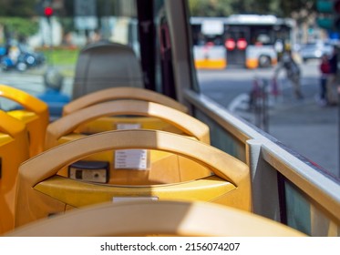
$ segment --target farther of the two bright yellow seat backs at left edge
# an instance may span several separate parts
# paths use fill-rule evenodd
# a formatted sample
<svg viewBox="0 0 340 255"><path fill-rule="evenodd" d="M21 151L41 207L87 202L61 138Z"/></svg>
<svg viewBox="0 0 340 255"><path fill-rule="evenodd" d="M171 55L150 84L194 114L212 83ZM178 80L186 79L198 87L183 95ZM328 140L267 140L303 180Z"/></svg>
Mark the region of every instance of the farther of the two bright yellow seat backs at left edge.
<svg viewBox="0 0 340 255"><path fill-rule="evenodd" d="M30 157L43 151L49 113L46 103L15 87L0 85L0 97L18 103L24 109L7 113L26 124L29 135Z"/></svg>

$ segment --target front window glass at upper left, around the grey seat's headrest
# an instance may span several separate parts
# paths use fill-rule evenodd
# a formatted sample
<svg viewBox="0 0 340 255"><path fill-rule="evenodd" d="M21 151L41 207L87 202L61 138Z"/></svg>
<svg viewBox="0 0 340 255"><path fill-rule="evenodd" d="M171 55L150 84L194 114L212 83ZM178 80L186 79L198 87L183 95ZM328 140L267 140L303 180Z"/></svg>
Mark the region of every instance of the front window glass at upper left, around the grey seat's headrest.
<svg viewBox="0 0 340 255"><path fill-rule="evenodd" d="M77 57L84 46L108 40L131 46L139 56L136 0L7 2L0 11L3 84L39 96L46 88L46 69L55 68L64 76L63 93L71 97ZM46 7L52 9L49 17ZM26 86L32 82L34 86Z"/></svg>

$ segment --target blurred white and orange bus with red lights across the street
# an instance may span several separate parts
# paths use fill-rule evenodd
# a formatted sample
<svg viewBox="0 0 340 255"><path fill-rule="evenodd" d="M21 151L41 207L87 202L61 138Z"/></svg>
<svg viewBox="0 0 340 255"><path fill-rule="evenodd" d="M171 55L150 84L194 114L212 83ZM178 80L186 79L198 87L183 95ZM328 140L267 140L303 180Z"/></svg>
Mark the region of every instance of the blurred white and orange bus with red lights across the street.
<svg viewBox="0 0 340 255"><path fill-rule="evenodd" d="M197 68L269 67L294 44L294 20L274 15L191 17Z"/></svg>

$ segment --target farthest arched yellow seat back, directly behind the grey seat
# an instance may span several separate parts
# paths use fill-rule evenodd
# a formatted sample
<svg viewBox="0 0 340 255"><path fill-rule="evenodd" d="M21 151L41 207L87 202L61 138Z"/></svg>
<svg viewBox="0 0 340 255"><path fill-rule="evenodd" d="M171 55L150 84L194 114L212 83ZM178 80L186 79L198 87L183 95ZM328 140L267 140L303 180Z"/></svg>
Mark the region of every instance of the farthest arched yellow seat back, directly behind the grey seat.
<svg viewBox="0 0 340 255"><path fill-rule="evenodd" d="M118 99L137 99L148 102L159 103L161 105L188 112L188 108L178 103L176 100L139 87L111 87L79 97L63 108L63 116L66 116L79 109L90 107L98 103L103 103ZM117 123L139 123L141 128L160 129L174 132L173 127L159 118L155 117L101 117L99 119L82 124L77 128L77 132L93 134L111 130Z"/></svg>

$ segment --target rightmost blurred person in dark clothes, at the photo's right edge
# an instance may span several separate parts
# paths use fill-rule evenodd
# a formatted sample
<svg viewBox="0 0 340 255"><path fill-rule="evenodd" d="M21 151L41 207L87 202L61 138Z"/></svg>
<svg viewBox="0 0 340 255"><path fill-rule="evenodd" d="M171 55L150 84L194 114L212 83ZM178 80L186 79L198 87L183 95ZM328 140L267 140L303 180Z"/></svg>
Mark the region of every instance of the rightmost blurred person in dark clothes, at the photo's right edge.
<svg viewBox="0 0 340 255"><path fill-rule="evenodd" d="M337 104L337 48L334 46L333 54L329 58L329 75L327 78L326 91L327 101L330 106Z"/></svg>

